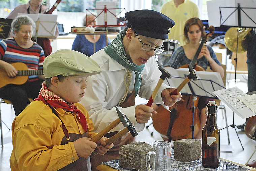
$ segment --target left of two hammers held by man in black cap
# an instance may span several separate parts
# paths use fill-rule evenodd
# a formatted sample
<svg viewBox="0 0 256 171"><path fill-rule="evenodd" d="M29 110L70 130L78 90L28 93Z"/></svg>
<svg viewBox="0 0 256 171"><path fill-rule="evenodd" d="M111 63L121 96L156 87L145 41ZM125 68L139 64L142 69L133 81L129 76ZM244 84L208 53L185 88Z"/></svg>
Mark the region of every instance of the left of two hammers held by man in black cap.
<svg viewBox="0 0 256 171"><path fill-rule="evenodd" d="M160 79L152 93L152 95L150 96L149 98L149 101L147 103L147 106L151 106L152 103L154 102L155 98L156 98L156 95L162 85L162 83L164 82L165 78L171 78L171 74L169 74L165 69L163 69L162 67L158 67L158 69L162 72L162 75L160 76Z"/></svg>

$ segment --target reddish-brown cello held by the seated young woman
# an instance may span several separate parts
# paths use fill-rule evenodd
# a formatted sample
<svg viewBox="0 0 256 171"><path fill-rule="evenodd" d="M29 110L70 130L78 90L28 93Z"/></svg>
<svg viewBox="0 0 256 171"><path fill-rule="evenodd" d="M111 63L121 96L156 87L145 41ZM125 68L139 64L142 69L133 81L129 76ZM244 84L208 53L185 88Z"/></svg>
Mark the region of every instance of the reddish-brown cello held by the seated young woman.
<svg viewBox="0 0 256 171"><path fill-rule="evenodd" d="M209 31L210 33L214 31L213 26L210 27ZM195 65L195 63L208 35L209 33L203 38L196 54L189 64L197 71L205 71L201 66ZM189 65L182 67L185 68ZM179 91L189 82L189 79L185 78L184 81L181 88L179 88L181 85L178 86ZM172 94L178 94L179 91L177 89L175 89ZM198 100L198 97L182 95L181 100L169 108L171 112L166 110L163 106L160 106L156 110L157 114L152 116L152 123L156 131L161 134L165 141L194 138L194 134L197 135L200 133L200 110L197 108ZM191 118L191 113L194 114L193 118Z"/></svg>

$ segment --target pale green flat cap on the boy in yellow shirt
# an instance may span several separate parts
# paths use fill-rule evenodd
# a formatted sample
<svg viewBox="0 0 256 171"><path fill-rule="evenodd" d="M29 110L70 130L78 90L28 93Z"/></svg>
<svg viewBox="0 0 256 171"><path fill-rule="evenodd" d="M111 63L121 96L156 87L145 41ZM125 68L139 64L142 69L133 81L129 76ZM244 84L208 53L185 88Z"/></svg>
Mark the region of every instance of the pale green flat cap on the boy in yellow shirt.
<svg viewBox="0 0 256 171"><path fill-rule="evenodd" d="M43 74L45 78L53 76L91 76L101 73L101 68L93 59L81 52L61 49L45 58Z"/></svg>

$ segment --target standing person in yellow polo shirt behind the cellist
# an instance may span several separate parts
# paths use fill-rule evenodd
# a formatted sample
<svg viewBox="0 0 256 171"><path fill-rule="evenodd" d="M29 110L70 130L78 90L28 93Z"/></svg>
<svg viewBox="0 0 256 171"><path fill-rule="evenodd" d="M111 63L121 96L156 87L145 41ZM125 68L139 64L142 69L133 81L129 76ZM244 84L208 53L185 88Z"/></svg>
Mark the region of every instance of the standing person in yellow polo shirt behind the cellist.
<svg viewBox="0 0 256 171"><path fill-rule="evenodd" d="M175 22L175 25L170 29L171 32L168 34L168 39L178 40L180 46L185 45L184 25L190 18L199 18L198 6L190 0L171 0L163 4L161 13L170 17Z"/></svg>

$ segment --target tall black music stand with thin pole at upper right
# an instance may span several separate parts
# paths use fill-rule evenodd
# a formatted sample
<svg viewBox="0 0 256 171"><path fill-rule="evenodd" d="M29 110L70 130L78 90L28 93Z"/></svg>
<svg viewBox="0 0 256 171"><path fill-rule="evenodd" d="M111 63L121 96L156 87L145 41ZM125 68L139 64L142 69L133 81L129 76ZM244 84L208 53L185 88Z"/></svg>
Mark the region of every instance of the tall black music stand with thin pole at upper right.
<svg viewBox="0 0 256 171"><path fill-rule="evenodd" d="M247 28L255 28L256 27L256 23L253 21L252 17L250 17L249 16L250 14L247 14L244 9L246 9L246 10L248 10L248 12L250 12L251 9L256 9L256 8L251 8L251 7L243 7L242 8L242 7L240 7L240 3L237 4L237 7L219 7L219 8L220 8L220 24L221 24L221 26L239 27L239 29L237 29L236 58L234 59L235 60L235 84L236 84L239 31L241 31L241 27L247 27ZM234 9L234 11L231 11L231 14L228 15L227 18L225 18L224 21L223 21L222 9L225 9L225 10L223 10L225 12L228 11L227 9ZM241 14L241 11L243 12L242 14ZM237 17L236 17L236 14L237 14ZM243 19L247 20L247 22L241 23L241 15L242 15ZM234 23L232 23L232 22L234 22ZM225 25L225 24L228 24L228 25ZM237 126L234 124L234 122L235 122L235 112L233 112L233 124L229 125L230 127L235 129L235 127L237 127ZM242 149L244 150L244 147L241 143L241 140L238 136L238 133L237 133L236 129L235 129L235 132L236 132L236 135L237 135L237 137L239 139L239 142L242 146Z"/></svg>

